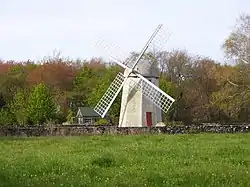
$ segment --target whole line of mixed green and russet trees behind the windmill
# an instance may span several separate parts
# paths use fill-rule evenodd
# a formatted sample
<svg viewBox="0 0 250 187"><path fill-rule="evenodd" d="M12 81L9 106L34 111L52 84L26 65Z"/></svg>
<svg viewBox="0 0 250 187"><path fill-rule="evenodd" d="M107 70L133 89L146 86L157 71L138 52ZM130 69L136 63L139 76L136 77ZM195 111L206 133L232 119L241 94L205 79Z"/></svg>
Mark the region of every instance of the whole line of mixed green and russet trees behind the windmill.
<svg viewBox="0 0 250 187"><path fill-rule="evenodd" d="M176 99L164 121L249 122L250 15L239 17L222 50L226 63L184 50L150 53L159 67L160 88ZM101 58L72 60L58 55L40 62L2 60L0 124L72 123L78 107L94 107L122 71ZM120 101L121 94L109 111L115 123Z"/></svg>

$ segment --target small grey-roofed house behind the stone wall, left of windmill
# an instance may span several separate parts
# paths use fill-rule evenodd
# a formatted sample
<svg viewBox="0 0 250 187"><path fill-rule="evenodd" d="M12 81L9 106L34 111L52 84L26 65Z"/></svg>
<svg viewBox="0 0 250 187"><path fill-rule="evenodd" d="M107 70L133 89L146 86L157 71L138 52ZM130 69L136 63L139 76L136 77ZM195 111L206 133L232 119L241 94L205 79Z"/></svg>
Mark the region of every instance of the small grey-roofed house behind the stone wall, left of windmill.
<svg viewBox="0 0 250 187"><path fill-rule="evenodd" d="M100 120L101 117L91 107L79 107L76 119L79 125L83 125L95 123Z"/></svg>

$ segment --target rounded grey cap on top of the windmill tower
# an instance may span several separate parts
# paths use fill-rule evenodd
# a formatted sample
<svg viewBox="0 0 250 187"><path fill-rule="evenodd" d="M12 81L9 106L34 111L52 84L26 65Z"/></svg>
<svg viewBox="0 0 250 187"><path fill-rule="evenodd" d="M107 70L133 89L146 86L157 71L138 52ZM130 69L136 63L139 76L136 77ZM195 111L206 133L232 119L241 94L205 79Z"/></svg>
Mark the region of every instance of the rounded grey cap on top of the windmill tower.
<svg viewBox="0 0 250 187"><path fill-rule="evenodd" d="M133 66L132 62L131 64L127 64L129 67ZM142 59L140 62L135 66L134 70L139 72L144 77L155 77L159 78L159 69L156 66L156 63L153 63L152 61ZM128 70L127 70L128 71Z"/></svg>

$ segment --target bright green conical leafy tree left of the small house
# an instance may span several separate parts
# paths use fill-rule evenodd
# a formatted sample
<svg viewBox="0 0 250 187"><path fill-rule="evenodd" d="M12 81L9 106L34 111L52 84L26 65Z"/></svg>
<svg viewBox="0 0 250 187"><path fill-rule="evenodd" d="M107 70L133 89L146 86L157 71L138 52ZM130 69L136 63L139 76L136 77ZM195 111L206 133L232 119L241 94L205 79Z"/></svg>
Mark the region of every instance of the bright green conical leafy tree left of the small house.
<svg viewBox="0 0 250 187"><path fill-rule="evenodd" d="M30 121L42 124L52 120L56 116L56 109L49 88L44 83L36 85L28 100L27 113Z"/></svg>

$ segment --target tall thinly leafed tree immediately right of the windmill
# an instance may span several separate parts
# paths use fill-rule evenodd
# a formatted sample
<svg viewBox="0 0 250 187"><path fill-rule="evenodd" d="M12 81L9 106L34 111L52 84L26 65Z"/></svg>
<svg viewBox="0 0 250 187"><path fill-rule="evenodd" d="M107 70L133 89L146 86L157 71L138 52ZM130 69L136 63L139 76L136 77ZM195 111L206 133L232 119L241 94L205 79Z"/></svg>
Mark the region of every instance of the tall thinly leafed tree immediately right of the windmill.
<svg viewBox="0 0 250 187"><path fill-rule="evenodd" d="M192 116L185 98L187 95L186 82L191 77L193 58L183 50L160 51L155 54L155 58L160 68L160 88L175 98L175 102L167 114L168 120L190 122ZM163 83L171 85L169 87L171 91L165 90Z"/></svg>

